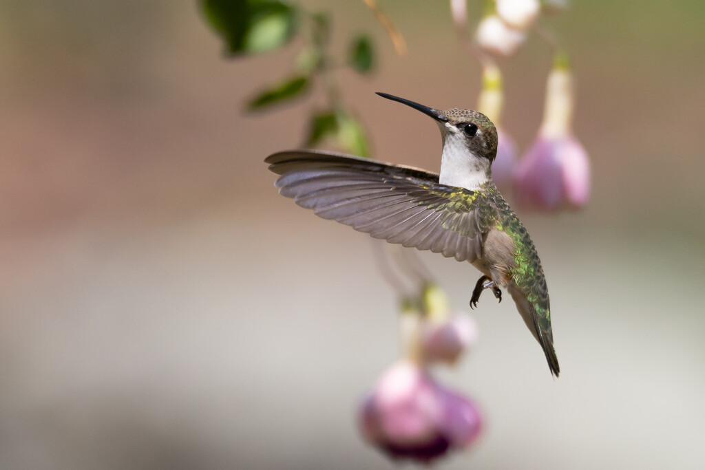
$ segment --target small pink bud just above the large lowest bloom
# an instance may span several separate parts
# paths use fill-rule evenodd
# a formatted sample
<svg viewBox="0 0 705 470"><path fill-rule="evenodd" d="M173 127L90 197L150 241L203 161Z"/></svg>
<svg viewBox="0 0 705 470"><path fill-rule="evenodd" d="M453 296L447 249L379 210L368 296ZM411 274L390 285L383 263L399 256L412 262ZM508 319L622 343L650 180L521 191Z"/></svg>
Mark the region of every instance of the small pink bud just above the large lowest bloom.
<svg viewBox="0 0 705 470"><path fill-rule="evenodd" d="M422 335L424 359L455 364L468 346L477 343L477 336L477 323L464 314L456 314L443 323L431 321Z"/></svg>

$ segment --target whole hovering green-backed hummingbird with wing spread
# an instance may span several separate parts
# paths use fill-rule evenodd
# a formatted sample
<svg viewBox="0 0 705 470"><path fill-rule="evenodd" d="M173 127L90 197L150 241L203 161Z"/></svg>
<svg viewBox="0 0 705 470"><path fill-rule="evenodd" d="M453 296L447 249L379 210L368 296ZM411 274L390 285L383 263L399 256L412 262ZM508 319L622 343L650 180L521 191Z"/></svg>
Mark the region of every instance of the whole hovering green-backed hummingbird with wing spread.
<svg viewBox="0 0 705 470"><path fill-rule="evenodd" d="M544 350L551 374L560 372L553 349L548 287L524 225L492 181L497 130L470 109L438 110L377 93L433 118L443 137L440 173L329 151L291 150L265 159L280 175L276 187L322 218L390 243L469 261L482 277L470 306L491 290L514 299Z"/></svg>

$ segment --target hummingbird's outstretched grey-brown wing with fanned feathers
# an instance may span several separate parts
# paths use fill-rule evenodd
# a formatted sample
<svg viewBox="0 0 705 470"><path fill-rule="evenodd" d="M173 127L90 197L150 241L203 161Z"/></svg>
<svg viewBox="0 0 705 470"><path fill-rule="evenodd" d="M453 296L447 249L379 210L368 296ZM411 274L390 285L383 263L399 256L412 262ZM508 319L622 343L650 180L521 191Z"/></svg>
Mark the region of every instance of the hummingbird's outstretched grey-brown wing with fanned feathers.
<svg viewBox="0 0 705 470"><path fill-rule="evenodd" d="M436 173L331 152L283 151L265 161L281 175L279 192L318 216L458 261L482 257L480 192L441 185Z"/></svg>

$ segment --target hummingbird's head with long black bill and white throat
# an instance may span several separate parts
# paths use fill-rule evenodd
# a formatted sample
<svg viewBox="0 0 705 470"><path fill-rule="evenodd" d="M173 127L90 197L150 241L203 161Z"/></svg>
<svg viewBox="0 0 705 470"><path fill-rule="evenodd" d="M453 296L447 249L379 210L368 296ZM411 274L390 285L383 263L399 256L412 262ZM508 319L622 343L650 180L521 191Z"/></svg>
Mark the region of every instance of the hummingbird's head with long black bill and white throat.
<svg viewBox="0 0 705 470"><path fill-rule="evenodd" d="M472 109L439 110L391 94L377 94L436 120L443 136L441 183L445 179L448 184L467 187L491 178L490 168L497 156L497 130L487 116ZM464 182L467 184L461 184Z"/></svg>

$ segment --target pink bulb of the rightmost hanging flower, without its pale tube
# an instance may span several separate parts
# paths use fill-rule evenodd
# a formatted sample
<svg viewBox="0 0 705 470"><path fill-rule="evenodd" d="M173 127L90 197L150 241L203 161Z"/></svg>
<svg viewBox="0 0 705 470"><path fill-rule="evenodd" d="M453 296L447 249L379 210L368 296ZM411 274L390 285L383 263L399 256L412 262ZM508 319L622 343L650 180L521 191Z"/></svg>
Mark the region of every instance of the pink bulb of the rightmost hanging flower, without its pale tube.
<svg viewBox="0 0 705 470"><path fill-rule="evenodd" d="M580 209L590 196L587 152L572 135L539 137L514 175L517 203L527 209Z"/></svg>

